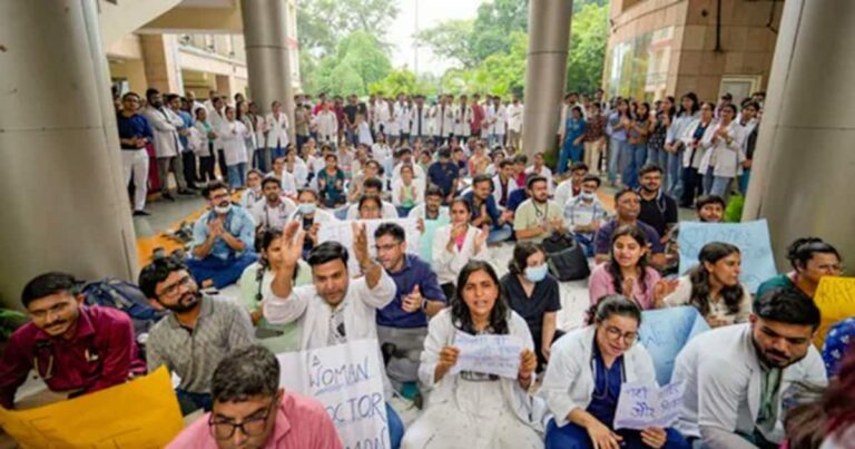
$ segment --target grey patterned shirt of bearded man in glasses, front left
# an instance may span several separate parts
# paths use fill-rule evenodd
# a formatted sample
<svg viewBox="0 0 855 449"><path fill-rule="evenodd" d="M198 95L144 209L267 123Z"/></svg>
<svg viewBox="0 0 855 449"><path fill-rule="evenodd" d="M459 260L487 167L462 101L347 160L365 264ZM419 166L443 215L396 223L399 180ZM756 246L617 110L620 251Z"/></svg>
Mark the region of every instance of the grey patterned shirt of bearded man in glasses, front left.
<svg viewBox="0 0 855 449"><path fill-rule="evenodd" d="M220 360L254 342L249 314L239 304L205 296L195 328L183 326L169 314L151 329L146 342L148 370L165 364L181 378L181 390L208 393Z"/></svg>

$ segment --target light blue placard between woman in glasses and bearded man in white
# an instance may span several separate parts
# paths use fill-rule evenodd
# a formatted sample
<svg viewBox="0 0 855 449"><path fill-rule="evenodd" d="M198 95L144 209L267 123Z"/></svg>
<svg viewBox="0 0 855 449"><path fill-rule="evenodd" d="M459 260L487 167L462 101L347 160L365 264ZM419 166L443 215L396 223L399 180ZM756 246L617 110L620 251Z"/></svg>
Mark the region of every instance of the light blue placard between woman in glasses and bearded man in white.
<svg viewBox="0 0 855 449"><path fill-rule="evenodd" d="M659 384L670 382L674 360L682 346L695 335L708 330L707 321L690 305L641 312L638 340L653 359L656 381Z"/></svg>

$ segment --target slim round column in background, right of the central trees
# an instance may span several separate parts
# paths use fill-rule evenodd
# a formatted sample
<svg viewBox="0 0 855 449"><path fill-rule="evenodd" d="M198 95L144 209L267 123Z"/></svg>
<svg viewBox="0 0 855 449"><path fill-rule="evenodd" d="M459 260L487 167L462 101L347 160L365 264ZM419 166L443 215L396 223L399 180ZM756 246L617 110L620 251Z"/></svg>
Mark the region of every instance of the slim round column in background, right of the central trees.
<svg viewBox="0 0 855 449"><path fill-rule="evenodd" d="M522 148L529 156L556 146L567 78L572 0L531 0Z"/></svg>

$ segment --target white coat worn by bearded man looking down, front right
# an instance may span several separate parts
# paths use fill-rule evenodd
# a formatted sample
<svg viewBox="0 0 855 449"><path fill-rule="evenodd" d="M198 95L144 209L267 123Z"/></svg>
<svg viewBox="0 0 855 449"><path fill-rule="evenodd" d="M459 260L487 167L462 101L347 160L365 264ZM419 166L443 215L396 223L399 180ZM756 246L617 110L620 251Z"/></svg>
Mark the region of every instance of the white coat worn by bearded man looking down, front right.
<svg viewBox="0 0 855 449"><path fill-rule="evenodd" d="M760 409L760 377L751 324L718 328L694 338L677 355L671 378L686 382L677 429L687 437L701 437L710 449L729 447L720 438L723 432L751 433ZM772 435L764 435L772 442L784 439L780 398L796 382L820 387L827 383L823 359L813 345L804 359L782 374L778 422Z"/></svg>

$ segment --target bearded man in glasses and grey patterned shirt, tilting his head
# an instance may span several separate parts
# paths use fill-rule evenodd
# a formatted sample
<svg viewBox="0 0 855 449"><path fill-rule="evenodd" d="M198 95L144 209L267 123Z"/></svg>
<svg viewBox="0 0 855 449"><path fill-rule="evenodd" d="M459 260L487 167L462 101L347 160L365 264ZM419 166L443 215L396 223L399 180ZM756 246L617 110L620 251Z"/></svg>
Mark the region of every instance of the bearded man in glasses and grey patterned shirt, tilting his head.
<svg viewBox="0 0 855 449"><path fill-rule="evenodd" d="M234 301L199 292L187 267L157 258L139 273L139 289L151 305L167 309L148 333L148 370L160 365L181 378L176 389L181 413L210 410L210 377L229 351L255 342L249 314Z"/></svg>

